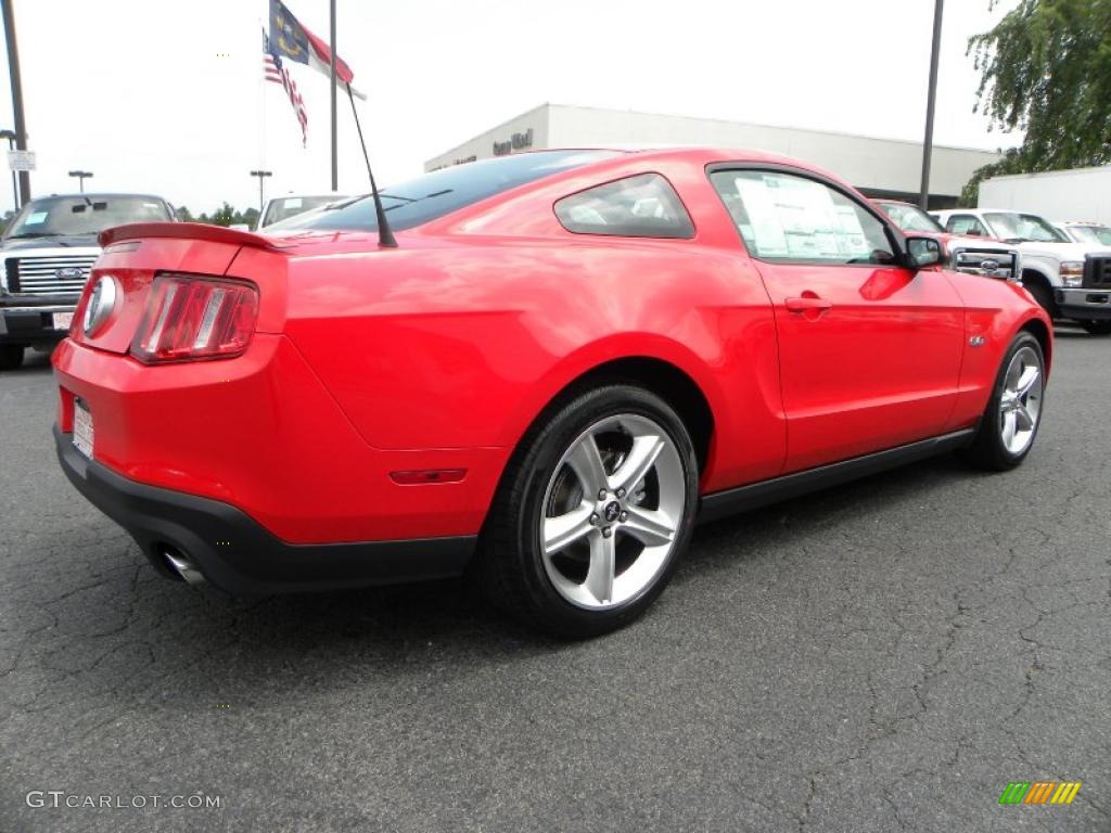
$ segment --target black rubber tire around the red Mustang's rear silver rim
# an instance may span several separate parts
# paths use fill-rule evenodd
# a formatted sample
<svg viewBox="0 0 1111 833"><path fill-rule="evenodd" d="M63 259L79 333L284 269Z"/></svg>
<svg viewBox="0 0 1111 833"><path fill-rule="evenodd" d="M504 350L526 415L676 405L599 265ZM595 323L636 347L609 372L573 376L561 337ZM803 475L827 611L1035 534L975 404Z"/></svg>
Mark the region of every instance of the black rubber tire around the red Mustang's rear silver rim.
<svg viewBox="0 0 1111 833"><path fill-rule="evenodd" d="M673 461L667 471L681 470L682 476L680 484L675 480L675 474L668 475L671 482L669 491L672 496L682 495L683 506L681 512L677 508L675 514L681 515L681 519L674 529L670 551L663 556L660 565L654 568L655 572L651 573L654 578L651 578L635 595L621 603L602 609L585 609L569 601L565 591L559 590L550 578L549 570L553 568L550 560L546 560L541 552L542 526L546 519L552 516L550 514L551 503L554 500L552 490L560 482L559 476L567 476L571 468L570 463L561 464L564 454L571 453L593 426L599 423L604 424L603 421L613 418L630 421L645 418L663 430L664 439L671 442L671 449L667 453L669 460ZM663 459L663 453L661 452L659 460ZM601 456L605 456L604 452ZM631 458L632 454L629 453L627 459ZM617 465L618 463L614 463L614 470ZM604 459L603 466L607 466ZM647 484L650 478L664 476L660 474L663 469L657 468L657 463L653 463L649 471L650 474L639 482ZM657 488L662 493L659 484ZM594 500L595 495L588 500L583 494L584 491L584 488L580 489L572 500L575 505L585 505ZM630 491L635 490L630 488ZM640 495L643 493L644 489L638 492L637 498L628 496L630 515L634 508L639 508L633 505L633 501L641 500ZM607 500L613 496L615 493L611 492ZM537 421L522 439L507 466L482 533L478 563L482 590L498 608L536 630L574 639L609 633L641 615L663 591L690 540L697 509L698 462L694 446L682 420L668 403L642 388L624 383L604 384L580 392L573 398L556 403ZM621 513L620 520L625 520L624 512ZM590 523L604 526L605 520L599 521L599 515L594 513ZM588 530L588 532L589 536L583 538L581 543L592 542L590 543L592 553L597 543L595 533L601 534L602 530ZM619 540L625 540L623 535L619 535L622 532L621 524L617 523L612 530L607 531L607 539L612 533L611 546L614 549L618 548ZM633 540L632 545L637 544L638 542ZM647 552L647 549L643 552ZM590 561L584 570L593 569L589 566L593 563L593 555L589 558ZM617 558L614 556L613 563L617 563ZM615 574L617 568L613 568L610 572L610 599L615 595L618 581L613 578ZM583 578L582 588L587 586L587 581Z"/></svg>

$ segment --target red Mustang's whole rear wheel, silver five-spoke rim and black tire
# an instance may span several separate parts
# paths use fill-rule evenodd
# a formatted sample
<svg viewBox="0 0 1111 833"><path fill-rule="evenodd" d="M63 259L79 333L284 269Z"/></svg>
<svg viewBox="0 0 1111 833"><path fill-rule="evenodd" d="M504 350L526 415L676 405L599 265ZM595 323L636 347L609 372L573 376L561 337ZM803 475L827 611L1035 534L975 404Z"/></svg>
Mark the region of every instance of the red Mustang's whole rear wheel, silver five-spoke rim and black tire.
<svg viewBox="0 0 1111 833"><path fill-rule="evenodd" d="M483 532L491 600L540 630L592 636L662 592L698 501L691 438L667 402L611 384L534 426Z"/></svg>

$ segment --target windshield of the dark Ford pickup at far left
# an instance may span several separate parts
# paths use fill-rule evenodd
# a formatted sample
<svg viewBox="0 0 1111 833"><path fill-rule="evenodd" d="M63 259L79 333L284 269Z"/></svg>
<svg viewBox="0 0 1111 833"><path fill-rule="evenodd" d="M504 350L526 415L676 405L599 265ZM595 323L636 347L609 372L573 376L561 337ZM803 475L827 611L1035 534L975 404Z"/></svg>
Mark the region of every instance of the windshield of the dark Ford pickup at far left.
<svg viewBox="0 0 1111 833"><path fill-rule="evenodd" d="M113 225L172 219L170 207L157 197L43 197L23 207L3 239L98 234Z"/></svg>

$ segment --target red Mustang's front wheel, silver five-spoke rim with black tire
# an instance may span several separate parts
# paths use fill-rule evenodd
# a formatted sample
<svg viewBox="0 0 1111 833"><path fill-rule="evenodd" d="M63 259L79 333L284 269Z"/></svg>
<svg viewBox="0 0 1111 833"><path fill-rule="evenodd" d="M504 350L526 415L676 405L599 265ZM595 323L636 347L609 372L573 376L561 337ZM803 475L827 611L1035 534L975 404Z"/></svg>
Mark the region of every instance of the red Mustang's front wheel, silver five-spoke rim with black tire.
<svg viewBox="0 0 1111 833"><path fill-rule="evenodd" d="M1033 448L1041 425L1045 360L1041 344L1020 332L1003 355L988 409L967 458L981 469L1007 471Z"/></svg>

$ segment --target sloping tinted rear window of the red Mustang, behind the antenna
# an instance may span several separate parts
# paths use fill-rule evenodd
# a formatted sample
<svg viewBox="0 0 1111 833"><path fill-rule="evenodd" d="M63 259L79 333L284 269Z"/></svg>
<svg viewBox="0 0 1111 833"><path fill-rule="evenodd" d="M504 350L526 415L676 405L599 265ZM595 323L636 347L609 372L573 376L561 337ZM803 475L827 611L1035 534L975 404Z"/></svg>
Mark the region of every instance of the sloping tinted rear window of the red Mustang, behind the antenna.
<svg viewBox="0 0 1111 833"><path fill-rule="evenodd" d="M383 188L379 194L382 207L388 212L390 228L400 231L436 220L526 182L614 155L614 151L542 150L483 159L441 168ZM267 231L294 229L373 231L378 229L374 201L369 194L364 194L334 207L294 217Z"/></svg>

